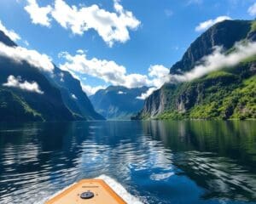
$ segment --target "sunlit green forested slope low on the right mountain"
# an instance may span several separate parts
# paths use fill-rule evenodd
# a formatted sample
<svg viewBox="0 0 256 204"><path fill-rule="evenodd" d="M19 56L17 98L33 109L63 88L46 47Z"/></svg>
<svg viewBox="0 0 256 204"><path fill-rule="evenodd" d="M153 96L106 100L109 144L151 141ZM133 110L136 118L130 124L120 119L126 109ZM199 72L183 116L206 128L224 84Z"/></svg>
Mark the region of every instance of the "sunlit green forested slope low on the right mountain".
<svg viewBox="0 0 256 204"><path fill-rule="evenodd" d="M160 113L157 118L256 118L255 75L241 78L241 75L232 71L216 71L195 82L182 84L168 97L172 100L169 109Z"/></svg>

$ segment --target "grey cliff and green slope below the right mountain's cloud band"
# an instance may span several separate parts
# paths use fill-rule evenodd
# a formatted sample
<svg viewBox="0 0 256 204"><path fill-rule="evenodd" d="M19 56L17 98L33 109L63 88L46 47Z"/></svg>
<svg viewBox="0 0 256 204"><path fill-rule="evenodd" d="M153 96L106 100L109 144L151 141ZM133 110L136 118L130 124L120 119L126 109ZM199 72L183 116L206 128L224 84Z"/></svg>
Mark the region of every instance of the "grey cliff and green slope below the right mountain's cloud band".
<svg viewBox="0 0 256 204"><path fill-rule="evenodd" d="M193 82L166 84L134 119L256 118L256 57Z"/></svg>

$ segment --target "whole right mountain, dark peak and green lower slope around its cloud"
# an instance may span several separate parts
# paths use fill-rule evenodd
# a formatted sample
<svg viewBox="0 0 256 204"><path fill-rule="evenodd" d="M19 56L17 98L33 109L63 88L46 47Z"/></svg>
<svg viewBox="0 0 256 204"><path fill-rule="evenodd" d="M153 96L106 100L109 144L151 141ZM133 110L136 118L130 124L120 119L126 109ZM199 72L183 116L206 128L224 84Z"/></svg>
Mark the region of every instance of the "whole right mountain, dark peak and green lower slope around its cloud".
<svg viewBox="0 0 256 204"><path fill-rule="evenodd" d="M255 21L225 20L198 37L170 73L191 71L214 46L232 54L236 42L255 39ZM145 100L143 110L133 119L255 119L255 73L256 56L190 82L165 84Z"/></svg>

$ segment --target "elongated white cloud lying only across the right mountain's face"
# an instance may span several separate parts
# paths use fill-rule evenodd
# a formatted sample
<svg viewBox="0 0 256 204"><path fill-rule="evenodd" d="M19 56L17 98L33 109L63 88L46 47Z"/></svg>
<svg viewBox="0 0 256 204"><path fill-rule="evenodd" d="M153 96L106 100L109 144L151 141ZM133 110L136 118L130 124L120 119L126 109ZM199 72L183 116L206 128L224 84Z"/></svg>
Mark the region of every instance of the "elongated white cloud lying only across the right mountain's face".
<svg viewBox="0 0 256 204"><path fill-rule="evenodd" d="M201 59L201 65L196 65L191 71L183 75L170 75L169 82L187 82L207 75L212 71L218 71L224 67L239 64L242 60L256 54L256 42L248 42L246 45L236 43L236 51L231 54L224 54L221 47L216 47L214 52Z"/></svg>

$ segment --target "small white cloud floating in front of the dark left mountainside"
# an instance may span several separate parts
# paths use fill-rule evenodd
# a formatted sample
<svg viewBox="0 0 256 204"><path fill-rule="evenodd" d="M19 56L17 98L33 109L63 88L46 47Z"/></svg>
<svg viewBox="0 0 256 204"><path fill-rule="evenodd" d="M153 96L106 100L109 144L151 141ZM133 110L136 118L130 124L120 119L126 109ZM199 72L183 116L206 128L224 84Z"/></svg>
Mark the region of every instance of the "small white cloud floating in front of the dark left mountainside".
<svg viewBox="0 0 256 204"><path fill-rule="evenodd" d="M7 82L3 83L3 86L10 88L20 88L28 92L44 94L44 92L40 90L37 82L22 82L21 77L14 77L13 75L10 75L7 78Z"/></svg>

